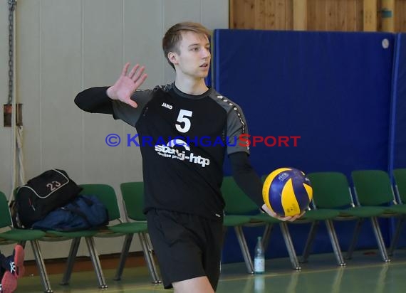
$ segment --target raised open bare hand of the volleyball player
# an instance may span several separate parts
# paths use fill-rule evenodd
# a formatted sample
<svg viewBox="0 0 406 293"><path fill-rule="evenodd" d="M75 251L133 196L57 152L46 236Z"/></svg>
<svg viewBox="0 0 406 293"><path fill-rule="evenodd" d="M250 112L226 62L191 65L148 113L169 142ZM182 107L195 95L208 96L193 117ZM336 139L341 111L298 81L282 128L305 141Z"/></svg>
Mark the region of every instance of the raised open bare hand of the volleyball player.
<svg viewBox="0 0 406 293"><path fill-rule="evenodd" d="M129 66L130 63L125 63L120 78L118 78L114 85L107 89L107 95L112 100L120 100L121 102L125 102L125 104L136 108L138 105L131 100L131 95L138 87L140 87L140 85L142 85L142 82L147 78L147 74L142 74L145 67L142 66L140 68L139 64L135 65L130 73L127 74Z"/></svg>

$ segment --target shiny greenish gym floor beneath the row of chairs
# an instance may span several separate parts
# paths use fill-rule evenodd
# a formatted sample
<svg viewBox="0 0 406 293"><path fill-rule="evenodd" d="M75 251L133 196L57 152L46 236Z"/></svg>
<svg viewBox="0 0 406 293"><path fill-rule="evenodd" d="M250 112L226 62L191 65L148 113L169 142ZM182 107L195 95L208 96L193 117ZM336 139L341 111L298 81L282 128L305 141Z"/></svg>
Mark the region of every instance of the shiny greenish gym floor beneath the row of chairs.
<svg viewBox="0 0 406 293"><path fill-rule="evenodd" d="M47 268L52 270L49 265ZM105 268L104 263L103 268L108 289L98 289L93 271L76 270L68 286L58 284L61 273L50 271L53 292L172 292L163 289L162 284L151 284L145 265L126 267L120 282L113 281L114 269ZM217 293L403 293L406 290L406 250L397 250L390 263L382 262L378 252L368 251L355 252L346 267L337 267L335 257L326 254L311 255L301 271L292 270L286 258L267 260L264 275L248 275L245 270L242 262L222 265ZM19 280L16 292L43 292L38 275L26 274Z"/></svg>

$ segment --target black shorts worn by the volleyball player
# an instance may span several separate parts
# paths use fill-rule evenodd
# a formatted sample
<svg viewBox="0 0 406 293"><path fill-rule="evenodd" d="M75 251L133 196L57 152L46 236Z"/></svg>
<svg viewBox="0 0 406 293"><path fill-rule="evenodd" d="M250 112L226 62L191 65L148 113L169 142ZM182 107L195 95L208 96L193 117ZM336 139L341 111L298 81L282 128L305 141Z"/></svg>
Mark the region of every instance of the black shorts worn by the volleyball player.
<svg viewBox="0 0 406 293"><path fill-rule="evenodd" d="M148 233L165 289L173 282L207 276L214 290L220 275L222 221L166 210L147 213Z"/></svg>

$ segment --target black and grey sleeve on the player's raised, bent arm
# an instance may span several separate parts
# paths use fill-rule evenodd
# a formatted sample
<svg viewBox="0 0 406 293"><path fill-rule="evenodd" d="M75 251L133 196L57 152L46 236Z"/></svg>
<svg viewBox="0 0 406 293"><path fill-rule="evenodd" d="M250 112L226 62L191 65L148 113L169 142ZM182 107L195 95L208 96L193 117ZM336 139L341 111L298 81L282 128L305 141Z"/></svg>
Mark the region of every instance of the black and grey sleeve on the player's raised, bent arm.
<svg viewBox="0 0 406 293"><path fill-rule="evenodd" d="M75 103L81 110L90 113L113 114L114 119L121 119L131 126L140 118L142 109L152 98L152 90L136 90L131 100L137 102L138 107L132 107L119 100L111 100L107 95L108 87L91 87L80 92Z"/></svg>

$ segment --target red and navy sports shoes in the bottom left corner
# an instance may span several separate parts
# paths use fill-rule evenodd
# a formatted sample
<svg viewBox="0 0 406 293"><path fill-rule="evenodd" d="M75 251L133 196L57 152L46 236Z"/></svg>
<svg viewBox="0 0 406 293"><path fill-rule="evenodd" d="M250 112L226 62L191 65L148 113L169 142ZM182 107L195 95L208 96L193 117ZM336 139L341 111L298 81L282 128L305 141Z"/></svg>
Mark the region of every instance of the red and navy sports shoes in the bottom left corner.
<svg viewBox="0 0 406 293"><path fill-rule="evenodd" d="M0 293L11 293L17 288L17 278L24 275L24 248L14 247L13 254L6 257L0 253Z"/></svg>

